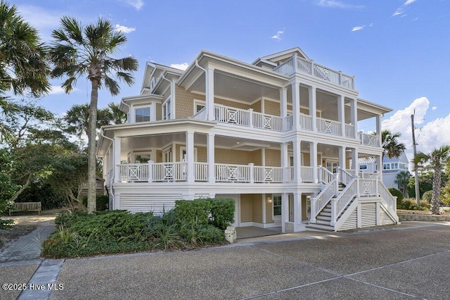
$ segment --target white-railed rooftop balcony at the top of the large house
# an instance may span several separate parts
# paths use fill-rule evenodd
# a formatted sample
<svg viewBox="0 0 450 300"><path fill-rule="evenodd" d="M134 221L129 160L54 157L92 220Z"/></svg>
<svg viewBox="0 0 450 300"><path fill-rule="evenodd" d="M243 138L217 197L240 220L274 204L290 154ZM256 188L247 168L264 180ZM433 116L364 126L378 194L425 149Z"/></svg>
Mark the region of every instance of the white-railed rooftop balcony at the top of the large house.
<svg viewBox="0 0 450 300"><path fill-rule="evenodd" d="M345 87L346 89L355 89L354 76L345 75L340 71L332 70L323 65L314 63L313 60L307 60L298 56L289 58L276 66L273 71L287 76L295 73L307 74L331 82L334 85Z"/></svg>

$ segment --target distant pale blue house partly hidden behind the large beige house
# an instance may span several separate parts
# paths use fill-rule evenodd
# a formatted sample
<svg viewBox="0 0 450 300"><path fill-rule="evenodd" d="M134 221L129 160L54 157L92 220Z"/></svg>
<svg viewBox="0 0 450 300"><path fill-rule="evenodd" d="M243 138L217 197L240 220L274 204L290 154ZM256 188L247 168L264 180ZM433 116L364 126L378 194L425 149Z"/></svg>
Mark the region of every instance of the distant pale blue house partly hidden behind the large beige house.
<svg viewBox="0 0 450 300"><path fill-rule="evenodd" d="M365 157L358 159L359 171L363 173L377 172L377 162L374 157ZM409 161L403 152L399 157L388 158L383 156L383 183L386 187L399 189L397 185L397 174L400 171L407 171Z"/></svg>

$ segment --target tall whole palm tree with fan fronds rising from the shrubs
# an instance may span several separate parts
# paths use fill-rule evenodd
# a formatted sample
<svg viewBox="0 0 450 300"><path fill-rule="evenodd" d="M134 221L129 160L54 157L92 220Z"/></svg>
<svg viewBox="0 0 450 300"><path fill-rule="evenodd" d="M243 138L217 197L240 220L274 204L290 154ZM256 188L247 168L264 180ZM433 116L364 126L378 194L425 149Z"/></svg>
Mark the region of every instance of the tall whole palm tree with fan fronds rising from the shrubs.
<svg viewBox="0 0 450 300"><path fill-rule="evenodd" d="M115 31L108 20L98 18L96 24L82 25L75 18L64 16L61 27L52 32L53 44L49 56L55 65L51 77L68 77L61 87L72 91L77 79L87 75L91 82L88 135L88 213L96 209L96 124L98 89L105 87L110 94L120 92L119 82L134 83L131 71L138 62L131 56L112 58L120 46L127 42L122 32ZM118 80L118 81L117 81Z"/></svg>

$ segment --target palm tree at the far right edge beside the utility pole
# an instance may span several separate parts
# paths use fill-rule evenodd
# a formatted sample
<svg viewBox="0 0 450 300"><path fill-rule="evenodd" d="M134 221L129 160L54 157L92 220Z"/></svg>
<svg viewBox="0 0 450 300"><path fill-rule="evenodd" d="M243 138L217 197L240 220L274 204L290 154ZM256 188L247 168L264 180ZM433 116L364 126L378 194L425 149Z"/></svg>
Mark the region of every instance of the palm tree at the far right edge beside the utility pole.
<svg viewBox="0 0 450 300"><path fill-rule="evenodd" d="M450 145L441 146L439 149L433 149L430 154L419 152L414 157L414 163L417 165L430 163L430 168L433 170L433 184L431 197L431 211L435 215L439 215L439 198L441 196L441 175L442 169L449 163L450 160Z"/></svg>

